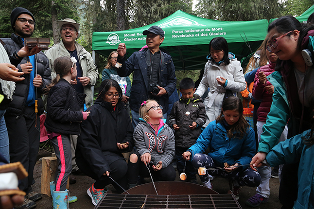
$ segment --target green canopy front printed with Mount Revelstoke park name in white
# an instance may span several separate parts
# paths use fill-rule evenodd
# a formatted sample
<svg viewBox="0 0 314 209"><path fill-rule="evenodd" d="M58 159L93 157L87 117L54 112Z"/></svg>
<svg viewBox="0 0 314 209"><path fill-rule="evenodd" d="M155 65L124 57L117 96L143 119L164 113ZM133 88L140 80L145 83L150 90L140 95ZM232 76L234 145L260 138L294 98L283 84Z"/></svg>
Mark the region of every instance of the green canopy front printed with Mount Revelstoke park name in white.
<svg viewBox="0 0 314 209"><path fill-rule="evenodd" d="M209 44L212 38L218 36L226 38L228 43L243 42L241 35L244 36L244 32L248 41L262 41L266 36L268 21L218 21L192 16L178 10L171 16L144 27L117 32L93 32L92 48L116 49L119 43L125 43L127 48L142 48L146 45L146 36L142 32L152 25L157 25L165 31L162 47L170 47Z"/></svg>

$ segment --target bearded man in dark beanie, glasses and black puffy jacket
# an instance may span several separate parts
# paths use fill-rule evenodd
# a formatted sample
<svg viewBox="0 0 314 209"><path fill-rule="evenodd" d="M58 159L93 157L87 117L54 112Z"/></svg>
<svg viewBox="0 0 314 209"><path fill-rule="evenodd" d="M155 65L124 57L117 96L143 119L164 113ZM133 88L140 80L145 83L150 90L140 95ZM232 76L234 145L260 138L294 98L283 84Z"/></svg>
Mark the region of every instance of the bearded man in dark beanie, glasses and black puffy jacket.
<svg viewBox="0 0 314 209"><path fill-rule="evenodd" d="M31 185L40 139L40 109L43 107L41 94L51 82L49 61L41 48L31 50L24 47L24 38L31 37L35 28L33 14L25 8L17 7L11 12L11 25L14 33L11 38L3 38L4 48L11 64L23 72L25 80L16 82L13 100L5 114L5 122L10 141L10 161L20 161L29 176L19 182L19 189L26 192L24 204L17 209L30 209L36 206L40 193L34 193ZM38 100L38 113L35 113L35 100Z"/></svg>

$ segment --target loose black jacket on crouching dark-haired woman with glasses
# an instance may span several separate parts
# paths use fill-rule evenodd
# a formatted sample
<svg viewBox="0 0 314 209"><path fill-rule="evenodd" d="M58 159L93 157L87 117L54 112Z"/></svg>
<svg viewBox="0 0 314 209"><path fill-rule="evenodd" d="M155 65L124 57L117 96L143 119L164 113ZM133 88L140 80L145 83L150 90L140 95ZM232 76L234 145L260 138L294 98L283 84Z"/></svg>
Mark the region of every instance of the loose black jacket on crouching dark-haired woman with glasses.
<svg viewBox="0 0 314 209"><path fill-rule="evenodd" d="M134 129L122 101L113 110L111 103L98 98L87 110L90 114L83 121L77 139L76 163L83 173L92 172L101 177L106 171L110 172L112 162L124 159L123 152L132 151ZM129 142L129 146L119 149L118 142Z"/></svg>

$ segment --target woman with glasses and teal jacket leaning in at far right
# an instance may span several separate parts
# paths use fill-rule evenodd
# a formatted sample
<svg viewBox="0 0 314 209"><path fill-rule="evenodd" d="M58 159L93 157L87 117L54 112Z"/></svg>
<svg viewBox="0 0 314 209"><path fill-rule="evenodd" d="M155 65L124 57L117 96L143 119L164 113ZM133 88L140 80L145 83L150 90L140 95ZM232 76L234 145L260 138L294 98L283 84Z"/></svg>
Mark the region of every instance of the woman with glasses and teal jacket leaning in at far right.
<svg viewBox="0 0 314 209"><path fill-rule="evenodd" d="M259 144L258 153L253 157L251 167L261 166L266 154L274 147L288 122L288 138L311 128L312 108L309 98L314 89L314 70L308 52L313 53L313 43L308 44L314 36L314 28L302 29L301 23L293 16L282 16L268 27L269 52L274 52L279 60L276 72L267 79L274 85L273 102L267 115L266 124ZM304 54L304 58L302 56ZM302 195L297 188L298 162L285 164L281 172L279 200L282 209L292 209L297 195ZM311 174L313 175L313 174Z"/></svg>

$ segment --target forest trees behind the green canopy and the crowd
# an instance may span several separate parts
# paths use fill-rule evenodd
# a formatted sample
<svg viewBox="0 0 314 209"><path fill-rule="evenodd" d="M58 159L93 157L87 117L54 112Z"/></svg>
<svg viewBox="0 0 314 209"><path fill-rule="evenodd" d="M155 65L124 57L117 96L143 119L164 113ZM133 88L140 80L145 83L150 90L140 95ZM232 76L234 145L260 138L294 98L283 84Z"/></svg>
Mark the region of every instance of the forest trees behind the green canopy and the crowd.
<svg viewBox="0 0 314 209"><path fill-rule="evenodd" d="M76 20L81 24L77 42L91 53L93 32L142 27L177 10L215 20L248 21L299 16L313 4L314 0L0 0L0 37L10 37L13 32L10 14L15 7L33 13L36 25L32 37L51 38L51 45L60 41L57 20ZM96 53L95 63L100 73L97 92L107 58ZM195 81L200 70L177 71L177 80L190 77Z"/></svg>

